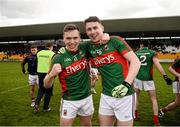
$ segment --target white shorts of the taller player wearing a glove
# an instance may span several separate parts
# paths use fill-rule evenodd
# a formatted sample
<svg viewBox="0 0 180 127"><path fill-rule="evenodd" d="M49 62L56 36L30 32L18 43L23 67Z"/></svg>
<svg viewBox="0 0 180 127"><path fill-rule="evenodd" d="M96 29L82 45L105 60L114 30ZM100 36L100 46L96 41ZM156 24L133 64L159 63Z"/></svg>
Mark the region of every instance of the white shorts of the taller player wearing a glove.
<svg viewBox="0 0 180 127"><path fill-rule="evenodd" d="M101 94L99 114L115 116L119 121L129 121L134 118L135 95L114 98Z"/></svg>

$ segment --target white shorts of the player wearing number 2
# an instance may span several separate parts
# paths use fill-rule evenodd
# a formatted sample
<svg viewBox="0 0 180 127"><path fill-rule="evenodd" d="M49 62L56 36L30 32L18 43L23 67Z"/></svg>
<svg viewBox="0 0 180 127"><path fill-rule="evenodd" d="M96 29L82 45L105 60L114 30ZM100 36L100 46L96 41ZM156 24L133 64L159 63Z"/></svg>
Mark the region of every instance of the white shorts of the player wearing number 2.
<svg viewBox="0 0 180 127"><path fill-rule="evenodd" d="M139 79L134 80L134 88L139 89L139 90L144 90L144 91L150 91L150 90L155 90L155 85L154 81L142 81Z"/></svg>

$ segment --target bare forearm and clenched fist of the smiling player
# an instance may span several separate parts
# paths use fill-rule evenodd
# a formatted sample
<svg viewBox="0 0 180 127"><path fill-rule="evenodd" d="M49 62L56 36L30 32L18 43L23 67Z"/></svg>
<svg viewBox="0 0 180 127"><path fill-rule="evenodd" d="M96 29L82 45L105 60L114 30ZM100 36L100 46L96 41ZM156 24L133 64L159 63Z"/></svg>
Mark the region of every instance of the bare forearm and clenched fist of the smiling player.
<svg viewBox="0 0 180 127"><path fill-rule="evenodd" d="M60 64L54 64L50 72L44 78L44 87L50 88L53 84L54 78L62 71Z"/></svg>

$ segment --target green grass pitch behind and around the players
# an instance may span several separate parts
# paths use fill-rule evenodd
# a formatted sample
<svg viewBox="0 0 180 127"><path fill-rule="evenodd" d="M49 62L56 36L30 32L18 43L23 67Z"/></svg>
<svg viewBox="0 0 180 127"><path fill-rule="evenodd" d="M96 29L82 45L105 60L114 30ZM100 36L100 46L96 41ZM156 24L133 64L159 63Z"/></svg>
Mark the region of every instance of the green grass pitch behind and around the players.
<svg viewBox="0 0 180 127"><path fill-rule="evenodd" d="M168 66L169 64L163 64L166 72L168 72ZM52 110L44 113L41 102L41 111L35 114L32 107L30 107L31 102L27 76L21 73L19 62L0 62L0 126L58 126L61 98L59 82L56 79L54 93L50 102ZM173 76L170 75L170 77L172 78ZM165 84L162 76L156 69L154 69L154 80L157 88L159 107L173 101L174 95L171 86ZM101 92L100 83L101 81L99 80L96 86L98 94L93 96L95 107L92 120L93 126L99 125L98 104ZM140 120L135 121L134 124L137 126L153 125L151 102L146 92L141 92L139 105ZM180 125L180 108L167 113L160 122L163 126ZM80 125L78 119L74 125Z"/></svg>

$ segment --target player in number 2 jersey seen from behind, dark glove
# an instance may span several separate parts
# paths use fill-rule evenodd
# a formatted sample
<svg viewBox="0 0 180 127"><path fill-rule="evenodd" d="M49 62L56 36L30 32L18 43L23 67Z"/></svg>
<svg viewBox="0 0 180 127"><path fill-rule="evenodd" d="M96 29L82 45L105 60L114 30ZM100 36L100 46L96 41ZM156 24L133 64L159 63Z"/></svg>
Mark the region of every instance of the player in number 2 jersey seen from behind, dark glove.
<svg viewBox="0 0 180 127"><path fill-rule="evenodd" d="M134 87L136 91L136 111L135 120L138 120L138 105L139 105L139 95L141 90L148 92L153 108L153 123L154 125L160 125L158 119L158 103L156 97L155 84L153 81L153 64L157 67L160 73L163 75L166 83L171 85L171 79L166 75L163 67L159 63L156 57L156 52L148 49L148 41L144 40L140 42L140 49L136 52L137 57L141 61L141 68L138 75L134 81Z"/></svg>

